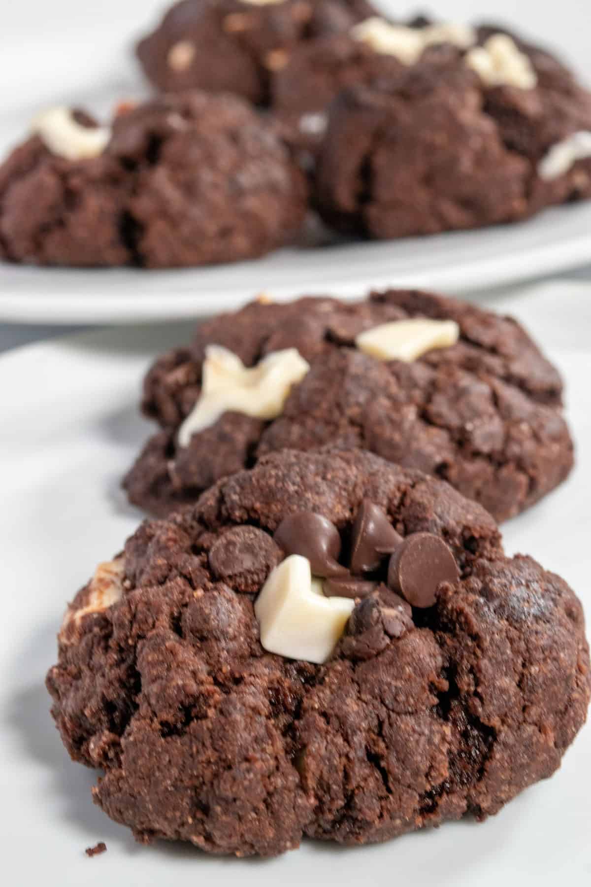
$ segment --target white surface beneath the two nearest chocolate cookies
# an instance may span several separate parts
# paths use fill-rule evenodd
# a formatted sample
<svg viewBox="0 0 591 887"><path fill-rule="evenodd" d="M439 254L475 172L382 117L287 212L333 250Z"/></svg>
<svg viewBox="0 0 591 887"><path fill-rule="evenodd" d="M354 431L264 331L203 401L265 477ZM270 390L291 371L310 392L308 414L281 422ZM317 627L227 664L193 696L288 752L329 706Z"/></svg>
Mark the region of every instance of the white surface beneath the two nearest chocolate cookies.
<svg viewBox="0 0 591 887"><path fill-rule="evenodd" d="M588 287L517 294L511 310L564 372L579 465L568 483L510 522L510 552L532 553L577 590L591 616L591 300ZM504 309L507 302L498 302ZM268 862L211 859L191 847L134 844L92 805L93 773L66 756L43 687L66 600L136 527L118 483L149 431L136 414L139 382L180 329L129 328L29 346L0 358L2 633L0 835L2 879L43 887L212 883L244 887L399 883L415 887L572 887L591 879L591 726L550 780L498 816L338 850L307 842ZM108 851L88 860L85 847ZM346 873L346 874L345 874Z"/></svg>

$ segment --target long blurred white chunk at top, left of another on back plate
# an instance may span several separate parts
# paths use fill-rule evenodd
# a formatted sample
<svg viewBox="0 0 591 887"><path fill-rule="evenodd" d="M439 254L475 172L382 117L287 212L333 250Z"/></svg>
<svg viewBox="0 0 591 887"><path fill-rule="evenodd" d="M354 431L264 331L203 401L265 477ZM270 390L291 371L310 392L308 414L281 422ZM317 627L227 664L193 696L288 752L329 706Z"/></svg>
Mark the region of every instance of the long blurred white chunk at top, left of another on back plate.
<svg viewBox="0 0 591 887"><path fill-rule="evenodd" d="M476 43L476 33L468 25L443 23L428 27L391 25L379 16L372 16L351 28L354 40L368 43L376 52L393 55L403 65L414 65L427 46L437 43L454 43L467 49Z"/></svg>

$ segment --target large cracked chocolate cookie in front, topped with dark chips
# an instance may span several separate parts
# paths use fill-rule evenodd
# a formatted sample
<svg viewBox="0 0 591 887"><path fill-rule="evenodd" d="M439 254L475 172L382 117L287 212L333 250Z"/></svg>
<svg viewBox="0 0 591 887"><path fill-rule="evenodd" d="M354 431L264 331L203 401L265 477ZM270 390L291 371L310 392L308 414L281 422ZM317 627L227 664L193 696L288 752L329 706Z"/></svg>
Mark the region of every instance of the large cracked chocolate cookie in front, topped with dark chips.
<svg viewBox="0 0 591 887"><path fill-rule="evenodd" d="M326 596L335 564L358 594ZM109 816L244 856L485 819L556 771L591 679L579 600L484 509L327 450L144 522L68 607L47 686Z"/></svg>

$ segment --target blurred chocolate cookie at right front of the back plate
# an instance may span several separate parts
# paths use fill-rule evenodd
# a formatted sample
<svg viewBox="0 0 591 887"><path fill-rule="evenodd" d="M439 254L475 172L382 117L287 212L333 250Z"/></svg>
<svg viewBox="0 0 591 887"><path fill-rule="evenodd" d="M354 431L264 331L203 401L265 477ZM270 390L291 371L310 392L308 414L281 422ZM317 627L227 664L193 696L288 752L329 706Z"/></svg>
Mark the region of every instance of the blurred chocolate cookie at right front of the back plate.
<svg viewBox="0 0 591 887"><path fill-rule="evenodd" d="M386 56L388 33L384 43L379 28L366 34ZM394 62L413 51L392 40ZM318 151L326 222L388 239L516 222L591 197L591 94L514 35L482 27L474 41L427 45L371 83L353 65L358 82L330 106ZM303 82L324 77L327 96L346 73Z"/></svg>

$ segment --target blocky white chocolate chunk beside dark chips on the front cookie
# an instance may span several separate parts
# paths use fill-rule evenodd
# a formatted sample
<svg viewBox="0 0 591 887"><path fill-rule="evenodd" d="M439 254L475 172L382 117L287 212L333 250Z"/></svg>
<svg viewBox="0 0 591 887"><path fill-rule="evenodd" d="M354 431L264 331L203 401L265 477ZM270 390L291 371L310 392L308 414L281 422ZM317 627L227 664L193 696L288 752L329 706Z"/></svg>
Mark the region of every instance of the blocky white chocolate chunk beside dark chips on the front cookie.
<svg viewBox="0 0 591 887"><path fill-rule="evenodd" d="M272 571L254 604L261 644L288 659L326 662L354 606L348 598L325 598L310 561L292 554Z"/></svg>

